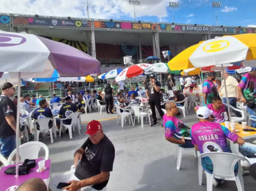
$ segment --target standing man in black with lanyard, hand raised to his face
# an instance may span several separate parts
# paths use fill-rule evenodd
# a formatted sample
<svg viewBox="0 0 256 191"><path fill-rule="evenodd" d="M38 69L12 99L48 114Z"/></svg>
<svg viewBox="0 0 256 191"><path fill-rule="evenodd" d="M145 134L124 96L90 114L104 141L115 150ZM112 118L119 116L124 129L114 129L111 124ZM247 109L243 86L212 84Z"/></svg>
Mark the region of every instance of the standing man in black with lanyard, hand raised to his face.
<svg viewBox="0 0 256 191"><path fill-rule="evenodd" d="M146 94L147 98L149 99L149 105L150 109L152 111L152 118L153 118L153 123L150 125L152 126L158 126L157 124L157 116L156 116L156 109L159 112L161 118L164 116L164 112L162 111L161 108L161 103L160 103L160 87L161 84L156 80L156 77L154 74L150 75L150 82L147 83L146 86Z"/></svg>

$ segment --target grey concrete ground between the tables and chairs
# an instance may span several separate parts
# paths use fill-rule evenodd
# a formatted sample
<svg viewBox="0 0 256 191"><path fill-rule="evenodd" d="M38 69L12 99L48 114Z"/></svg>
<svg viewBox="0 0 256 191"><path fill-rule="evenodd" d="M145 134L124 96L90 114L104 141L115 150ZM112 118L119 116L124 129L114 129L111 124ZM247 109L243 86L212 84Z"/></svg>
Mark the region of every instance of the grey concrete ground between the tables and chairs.
<svg viewBox="0 0 256 191"><path fill-rule="evenodd" d="M197 122L195 112L191 109L189 115L184 118L178 116L189 126ZM117 125L117 114L107 115L106 112L99 114L93 111L82 114L81 135L77 128L73 132L73 138L68 134L64 137L55 138L50 143L50 137L44 136L40 141L46 143L50 150L52 160L52 176L70 170L73 164L73 155L87 139L84 136L87 123L91 120L100 120L104 133L112 141L115 147L115 161L113 172L107 185L108 191L206 191L206 176L203 177L203 185L198 185L197 159L192 149L188 149L183 155L181 168L176 169L174 160L174 145L164 138L164 128L159 126L149 127L144 123L132 126L121 121ZM252 140L249 140L252 141ZM256 181L249 175L244 175L245 191L255 190ZM254 189L253 189L254 188ZM226 181L213 191L236 191L235 182Z"/></svg>

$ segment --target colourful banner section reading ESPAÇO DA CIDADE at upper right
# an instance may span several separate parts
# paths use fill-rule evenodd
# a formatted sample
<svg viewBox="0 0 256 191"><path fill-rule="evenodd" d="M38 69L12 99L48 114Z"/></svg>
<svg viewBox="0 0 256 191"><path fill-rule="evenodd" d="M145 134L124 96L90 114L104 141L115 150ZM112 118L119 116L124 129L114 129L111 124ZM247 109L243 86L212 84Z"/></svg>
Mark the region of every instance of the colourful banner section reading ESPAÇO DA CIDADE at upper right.
<svg viewBox="0 0 256 191"><path fill-rule="evenodd" d="M245 33L256 33L256 29L252 28L234 28L234 27L206 27L206 26L184 26L184 25L168 25L159 24L160 30L163 31L184 31L184 32L205 32L205 33L217 33L217 34L245 34Z"/></svg>

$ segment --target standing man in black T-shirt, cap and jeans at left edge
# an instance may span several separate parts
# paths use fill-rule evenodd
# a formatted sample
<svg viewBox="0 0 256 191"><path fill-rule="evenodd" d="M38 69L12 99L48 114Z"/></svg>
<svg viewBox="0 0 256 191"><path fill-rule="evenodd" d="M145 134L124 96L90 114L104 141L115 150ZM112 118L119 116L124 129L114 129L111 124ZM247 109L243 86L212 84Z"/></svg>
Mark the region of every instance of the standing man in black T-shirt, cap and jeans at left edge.
<svg viewBox="0 0 256 191"><path fill-rule="evenodd" d="M0 96L0 145L1 154L8 158L16 147L17 107L10 97L15 94L15 87L7 82L1 86ZM20 137L22 133L20 132Z"/></svg>

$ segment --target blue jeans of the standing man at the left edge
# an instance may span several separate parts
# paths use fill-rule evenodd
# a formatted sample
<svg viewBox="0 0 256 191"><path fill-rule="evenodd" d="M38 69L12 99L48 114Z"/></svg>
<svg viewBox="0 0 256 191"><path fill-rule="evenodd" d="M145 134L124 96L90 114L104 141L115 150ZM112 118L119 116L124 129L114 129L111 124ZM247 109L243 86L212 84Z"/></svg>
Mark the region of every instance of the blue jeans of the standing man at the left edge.
<svg viewBox="0 0 256 191"><path fill-rule="evenodd" d="M16 148L16 134L8 137L0 138L1 153L4 157L9 157Z"/></svg>

